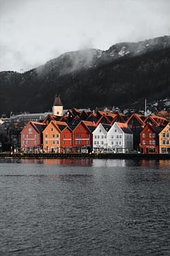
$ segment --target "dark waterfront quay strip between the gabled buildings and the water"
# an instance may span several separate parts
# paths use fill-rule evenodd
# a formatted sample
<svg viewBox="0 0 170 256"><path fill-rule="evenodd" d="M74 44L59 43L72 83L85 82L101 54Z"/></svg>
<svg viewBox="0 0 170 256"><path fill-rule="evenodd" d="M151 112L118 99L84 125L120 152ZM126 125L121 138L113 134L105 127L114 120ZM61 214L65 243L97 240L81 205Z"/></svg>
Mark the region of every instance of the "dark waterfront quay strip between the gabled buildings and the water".
<svg viewBox="0 0 170 256"><path fill-rule="evenodd" d="M0 158L48 159L48 158L92 158L92 159L170 159L170 154L137 153L0 153Z"/></svg>

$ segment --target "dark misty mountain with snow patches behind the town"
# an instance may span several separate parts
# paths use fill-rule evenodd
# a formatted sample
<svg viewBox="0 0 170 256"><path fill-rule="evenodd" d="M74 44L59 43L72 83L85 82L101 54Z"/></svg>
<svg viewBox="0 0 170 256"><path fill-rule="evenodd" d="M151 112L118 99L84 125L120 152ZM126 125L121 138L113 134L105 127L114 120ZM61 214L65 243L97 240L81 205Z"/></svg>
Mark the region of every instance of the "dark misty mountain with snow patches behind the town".
<svg viewBox="0 0 170 256"><path fill-rule="evenodd" d="M0 114L51 111L56 93L65 108L169 98L169 70L170 36L64 53L22 74L1 72Z"/></svg>

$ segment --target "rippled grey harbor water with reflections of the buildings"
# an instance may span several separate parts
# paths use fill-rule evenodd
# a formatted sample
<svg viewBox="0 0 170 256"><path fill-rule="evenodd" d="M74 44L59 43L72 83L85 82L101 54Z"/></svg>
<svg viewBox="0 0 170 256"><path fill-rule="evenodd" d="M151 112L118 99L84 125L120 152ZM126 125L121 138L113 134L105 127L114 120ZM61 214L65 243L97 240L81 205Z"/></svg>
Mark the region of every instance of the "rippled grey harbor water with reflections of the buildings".
<svg viewBox="0 0 170 256"><path fill-rule="evenodd" d="M170 160L1 159L0 255L169 255Z"/></svg>

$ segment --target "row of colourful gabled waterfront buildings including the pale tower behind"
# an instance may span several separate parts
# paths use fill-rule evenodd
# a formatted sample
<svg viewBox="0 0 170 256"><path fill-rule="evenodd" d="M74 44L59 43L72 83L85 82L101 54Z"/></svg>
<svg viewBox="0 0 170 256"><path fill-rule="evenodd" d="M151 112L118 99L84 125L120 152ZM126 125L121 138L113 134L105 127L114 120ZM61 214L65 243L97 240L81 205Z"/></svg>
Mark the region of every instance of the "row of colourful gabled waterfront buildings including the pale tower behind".
<svg viewBox="0 0 170 256"><path fill-rule="evenodd" d="M20 132L20 151L45 153L170 153L170 120L72 108L63 114L55 96L53 114L29 121Z"/></svg>

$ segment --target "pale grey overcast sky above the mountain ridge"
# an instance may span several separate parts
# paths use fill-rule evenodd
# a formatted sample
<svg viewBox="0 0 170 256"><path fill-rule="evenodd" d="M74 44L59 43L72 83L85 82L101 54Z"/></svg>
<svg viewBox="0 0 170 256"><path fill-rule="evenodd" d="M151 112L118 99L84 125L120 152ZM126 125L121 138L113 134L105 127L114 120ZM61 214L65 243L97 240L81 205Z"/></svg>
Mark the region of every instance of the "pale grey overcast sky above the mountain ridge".
<svg viewBox="0 0 170 256"><path fill-rule="evenodd" d="M0 0L0 71L170 35L170 0Z"/></svg>

